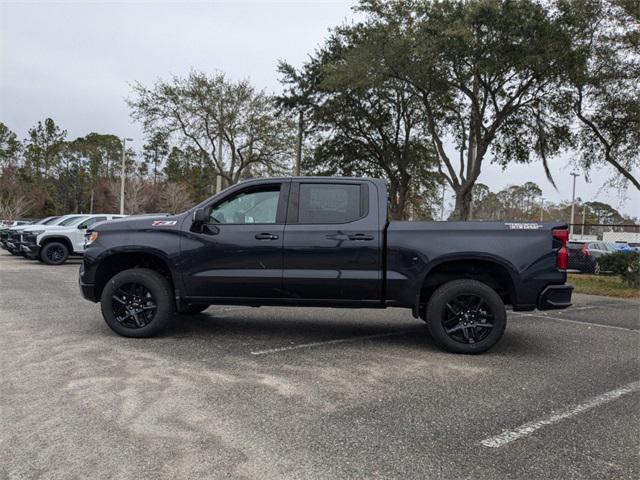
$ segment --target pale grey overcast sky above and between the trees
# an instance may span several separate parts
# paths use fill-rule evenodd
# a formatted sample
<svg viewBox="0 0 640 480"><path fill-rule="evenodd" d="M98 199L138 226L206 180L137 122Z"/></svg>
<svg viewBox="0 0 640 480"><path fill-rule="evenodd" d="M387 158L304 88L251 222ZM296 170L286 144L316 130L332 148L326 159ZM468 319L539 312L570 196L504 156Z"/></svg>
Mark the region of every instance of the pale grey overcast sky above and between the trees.
<svg viewBox="0 0 640 480"><path fill-rule="evenodd" d="M269 92L276 65L302 65L330 28L354 18L354 1L5 1L0 0L0 121L23 138L53 118L70 138L113 133L142 147L124 99L130 85L185 75L190 69L248 78ZM558 190L542 165L487 162L479 181L492 190L534 181L546 202L571 199L572 157L551 161ZM603 188L608 169L576 182L584 201L640 216L640 192ZM451 199L450 199L451 200Z"/></svg>

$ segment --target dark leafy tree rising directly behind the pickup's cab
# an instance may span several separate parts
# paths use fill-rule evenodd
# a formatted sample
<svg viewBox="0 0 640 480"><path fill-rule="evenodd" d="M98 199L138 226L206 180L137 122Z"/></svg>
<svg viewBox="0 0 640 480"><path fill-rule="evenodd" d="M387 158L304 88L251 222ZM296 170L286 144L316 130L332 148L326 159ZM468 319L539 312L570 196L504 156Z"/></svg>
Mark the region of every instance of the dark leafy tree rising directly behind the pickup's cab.
<svg viewBox="0 0 640 480"><path fill-rule="evenodd" d="M352 48L353 38L338 34L301 72L281 63L281 81L289 88L280 102L304 111L315 131L315 149L305 168L384 177L391 218L430 215L425 206L433 199L438 176L433 149L420 128L420 101L396 79L354 82L347 70L335 68Z"/></svg>

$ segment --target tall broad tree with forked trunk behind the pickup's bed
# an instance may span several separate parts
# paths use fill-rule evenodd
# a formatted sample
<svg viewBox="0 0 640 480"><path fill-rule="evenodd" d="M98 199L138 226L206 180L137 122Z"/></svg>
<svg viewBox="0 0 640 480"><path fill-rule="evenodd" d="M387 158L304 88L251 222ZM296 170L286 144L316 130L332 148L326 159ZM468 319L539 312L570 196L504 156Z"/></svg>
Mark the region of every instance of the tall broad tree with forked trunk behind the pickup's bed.
<svg viewBox="0 0 640 480"><path fill-rule="evenodd" d="M387 76L421 100L442 175L468 219L473 185L493 160L547 159L568 141L555 88L571 39L534 0L364 0L366 19L340 29L358 44L336 68L353 81ZM453 145L455 156L447 145Z"/></svg>

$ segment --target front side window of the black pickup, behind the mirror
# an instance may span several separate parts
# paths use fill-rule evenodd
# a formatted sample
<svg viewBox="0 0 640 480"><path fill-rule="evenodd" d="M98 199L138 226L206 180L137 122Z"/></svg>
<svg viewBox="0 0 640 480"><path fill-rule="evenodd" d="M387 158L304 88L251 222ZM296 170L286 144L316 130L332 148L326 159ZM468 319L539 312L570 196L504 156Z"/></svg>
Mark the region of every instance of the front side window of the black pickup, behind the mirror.
<svg viewBox="0 0 640 480"><path fill-rule="evenodd" d="M217 205L211 223L276 223L280 185L240 192Z"/></svg>

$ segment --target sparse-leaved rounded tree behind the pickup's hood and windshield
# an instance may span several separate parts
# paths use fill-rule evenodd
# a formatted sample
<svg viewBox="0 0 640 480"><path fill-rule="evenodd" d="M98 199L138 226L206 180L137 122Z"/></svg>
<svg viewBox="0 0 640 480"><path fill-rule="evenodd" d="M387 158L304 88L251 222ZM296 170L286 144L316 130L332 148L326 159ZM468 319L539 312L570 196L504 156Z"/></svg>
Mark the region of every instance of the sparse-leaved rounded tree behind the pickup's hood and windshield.
<svg viewBox="0 0 640 480"><path fill-rule="evenodd" d="M273 99L248 81L192 71L186 78L133 85L131 116L150 135L162 132L201 154L227 185L248 172L278 173L291 156L293 126Z"/></svg>

